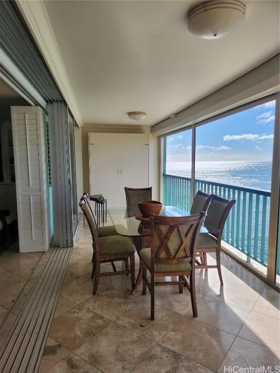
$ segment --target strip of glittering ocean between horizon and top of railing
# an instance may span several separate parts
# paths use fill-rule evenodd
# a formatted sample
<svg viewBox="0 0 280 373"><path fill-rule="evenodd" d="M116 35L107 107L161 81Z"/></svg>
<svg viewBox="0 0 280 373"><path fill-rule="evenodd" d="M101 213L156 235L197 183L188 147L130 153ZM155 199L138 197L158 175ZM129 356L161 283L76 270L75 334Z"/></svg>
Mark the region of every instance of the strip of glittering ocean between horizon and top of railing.
<svg viewBox="0 0 280 373"><path fill-rule="evenodd" d="M270 191L272 162L208 161L195 163L195 179ZM191 162L166 162L169 175L191 177Z"/></svg>

